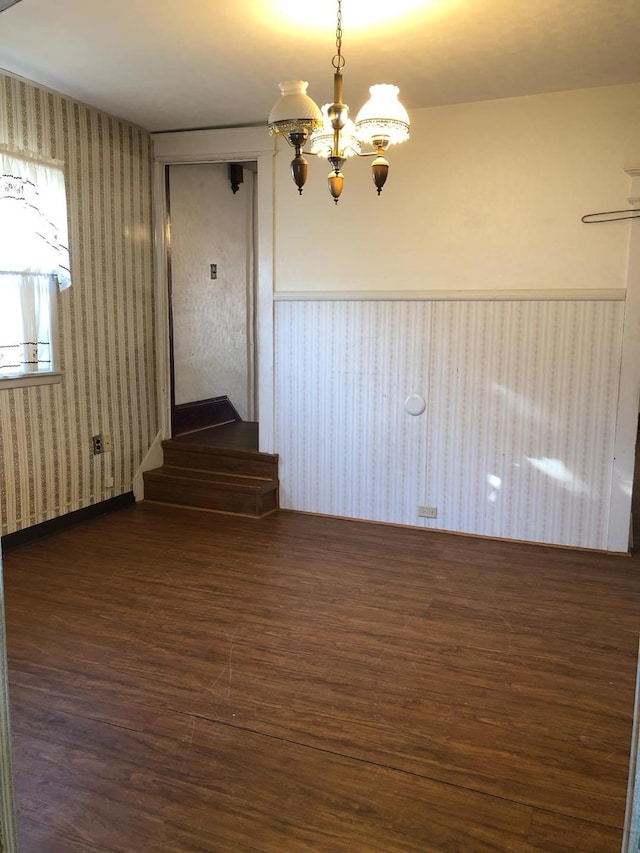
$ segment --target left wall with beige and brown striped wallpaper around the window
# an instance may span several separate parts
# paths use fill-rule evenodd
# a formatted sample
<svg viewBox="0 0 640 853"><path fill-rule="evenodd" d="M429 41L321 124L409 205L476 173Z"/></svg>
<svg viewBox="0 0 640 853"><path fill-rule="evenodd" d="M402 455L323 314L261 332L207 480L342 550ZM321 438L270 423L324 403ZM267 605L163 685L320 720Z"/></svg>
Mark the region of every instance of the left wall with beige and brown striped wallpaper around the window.
<svg viewBox="0 0 640 853"><path fill-rule="evenodd" d="M0 143L65 161L73 277L58 294L62 383L0 388L6 534L130 491L157 405L148 133L0 74ZM93 455L98 433L111 453Z"/></svg>

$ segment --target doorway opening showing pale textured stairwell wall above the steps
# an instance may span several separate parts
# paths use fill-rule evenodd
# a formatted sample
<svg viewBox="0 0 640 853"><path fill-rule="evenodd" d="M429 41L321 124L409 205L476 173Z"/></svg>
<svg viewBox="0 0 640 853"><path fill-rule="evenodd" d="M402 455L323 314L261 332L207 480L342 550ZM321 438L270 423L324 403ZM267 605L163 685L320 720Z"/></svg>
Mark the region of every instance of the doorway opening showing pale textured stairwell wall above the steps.
<svg viewBox="0 0 640 853"><path fill-rule="evenodd" d="M165 167L171 434L254 421L257 163Z"/></svg>

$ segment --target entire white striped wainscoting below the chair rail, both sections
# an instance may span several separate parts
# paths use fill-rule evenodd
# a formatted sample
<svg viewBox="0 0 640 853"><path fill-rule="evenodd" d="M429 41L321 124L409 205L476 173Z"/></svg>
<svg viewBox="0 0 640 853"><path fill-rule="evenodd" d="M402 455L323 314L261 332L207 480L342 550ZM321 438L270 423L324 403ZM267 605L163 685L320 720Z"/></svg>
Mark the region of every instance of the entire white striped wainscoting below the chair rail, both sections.
<svg viewBox="0 0 640 853"><path fill-rule="evenodd" d="M278 302L281 505L605 548L623 316L616 300Z"/></svg>

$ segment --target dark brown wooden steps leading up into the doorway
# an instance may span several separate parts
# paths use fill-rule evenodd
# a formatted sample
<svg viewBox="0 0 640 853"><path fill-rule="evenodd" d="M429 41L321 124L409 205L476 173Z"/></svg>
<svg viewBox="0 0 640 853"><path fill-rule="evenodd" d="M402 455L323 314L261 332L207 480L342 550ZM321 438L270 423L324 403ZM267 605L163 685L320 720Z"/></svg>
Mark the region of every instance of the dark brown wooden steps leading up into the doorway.
<svg viewBox="0 0 640 853"><path fill-rule="evenodd" d="M144 473L144 499L262 518L278 509L278 456L261 453L258 425L221 424L162 442L164 464Z"/></svg>

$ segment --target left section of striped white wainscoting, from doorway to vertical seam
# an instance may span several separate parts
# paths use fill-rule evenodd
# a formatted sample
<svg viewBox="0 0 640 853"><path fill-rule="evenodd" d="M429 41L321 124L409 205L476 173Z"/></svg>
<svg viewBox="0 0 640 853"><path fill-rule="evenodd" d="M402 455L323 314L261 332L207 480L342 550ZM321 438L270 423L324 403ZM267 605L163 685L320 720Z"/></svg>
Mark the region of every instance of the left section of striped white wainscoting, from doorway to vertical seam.
<svg viewBox="0 0 640 853"><path fill-rule="evenodd" d="M426 302L277 305L281 506L415 523L427 432L404 400L427 384L431 310Z"/></svg>

